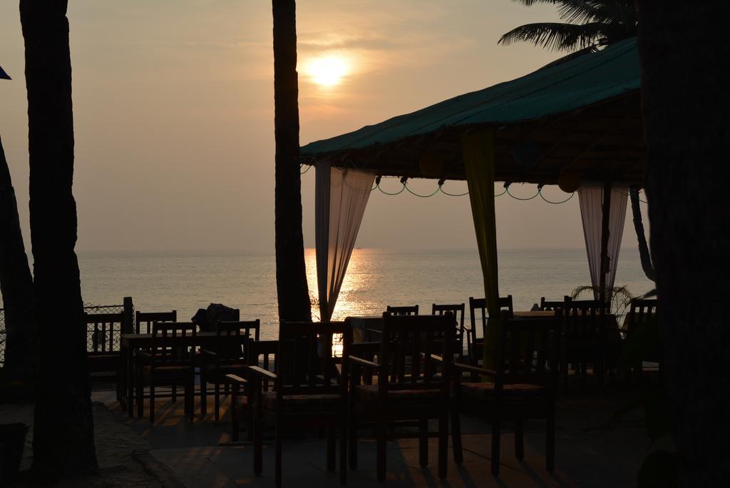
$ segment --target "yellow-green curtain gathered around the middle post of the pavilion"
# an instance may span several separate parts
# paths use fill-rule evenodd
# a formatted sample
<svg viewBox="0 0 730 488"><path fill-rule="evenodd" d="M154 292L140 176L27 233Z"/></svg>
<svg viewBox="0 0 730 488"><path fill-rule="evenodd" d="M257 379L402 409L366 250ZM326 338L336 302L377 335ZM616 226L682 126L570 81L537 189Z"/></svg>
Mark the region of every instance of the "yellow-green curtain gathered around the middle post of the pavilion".
<svg viewBox="0 0 730 488"><path fill-rule="evenodd" d="M497 275L496 221L494 218L494 133L492 129L468 131L461 136L466 183L472 202L484 292L489 313L484 333L484 367L493 364L499 340L499 285Z"/></svg>

